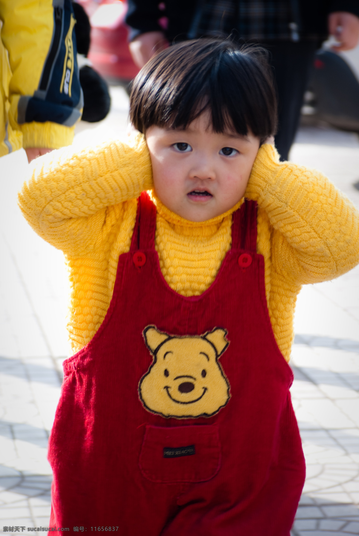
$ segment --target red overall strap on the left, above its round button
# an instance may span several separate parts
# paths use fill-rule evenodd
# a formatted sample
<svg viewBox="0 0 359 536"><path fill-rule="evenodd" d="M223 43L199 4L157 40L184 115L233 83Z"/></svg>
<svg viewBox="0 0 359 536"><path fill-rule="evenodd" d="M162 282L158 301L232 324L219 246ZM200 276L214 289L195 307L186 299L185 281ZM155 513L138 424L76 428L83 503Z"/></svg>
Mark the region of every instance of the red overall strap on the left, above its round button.
<svg viewBox="0 0 359 536"><path fill-rule="evenodd" d="M156 207L147 192L137 200L136 224L134 225L130 251L153 249L156 231Z"/></svg>

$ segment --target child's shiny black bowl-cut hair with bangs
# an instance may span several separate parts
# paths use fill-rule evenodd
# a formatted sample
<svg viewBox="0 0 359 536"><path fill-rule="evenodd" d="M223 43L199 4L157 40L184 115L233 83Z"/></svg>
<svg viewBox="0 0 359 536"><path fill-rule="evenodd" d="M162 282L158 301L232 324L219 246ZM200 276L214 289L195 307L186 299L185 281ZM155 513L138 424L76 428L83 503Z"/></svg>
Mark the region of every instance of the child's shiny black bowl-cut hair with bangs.
<svg viewBox="0 0 359 536"><path fill-rule="evenodd" d="M275 133L276 94L267 51L230 39L184 41L162 50L140 70L130 95L130 120L145 133L150 126L185 129L210 110L215 132L264 140Z"/></svg>

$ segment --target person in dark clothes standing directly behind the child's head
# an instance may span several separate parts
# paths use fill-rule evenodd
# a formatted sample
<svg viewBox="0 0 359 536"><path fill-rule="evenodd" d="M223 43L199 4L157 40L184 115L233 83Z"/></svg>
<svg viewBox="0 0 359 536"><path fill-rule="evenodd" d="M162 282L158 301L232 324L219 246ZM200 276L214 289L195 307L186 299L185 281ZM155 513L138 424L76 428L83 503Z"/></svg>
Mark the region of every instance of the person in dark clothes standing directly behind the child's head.
<svg viewBox="0 0 359 536"><path fill-rule="evenodd" d="M359 0L129 0L130 51L141 68L173 41L232 34L270 51L279 98L275 146L288 160L316 50L333 35L335 50L359 40ZM166 23L163 24L164 17ZM167 26L167 27L166 27Z"/></svg>

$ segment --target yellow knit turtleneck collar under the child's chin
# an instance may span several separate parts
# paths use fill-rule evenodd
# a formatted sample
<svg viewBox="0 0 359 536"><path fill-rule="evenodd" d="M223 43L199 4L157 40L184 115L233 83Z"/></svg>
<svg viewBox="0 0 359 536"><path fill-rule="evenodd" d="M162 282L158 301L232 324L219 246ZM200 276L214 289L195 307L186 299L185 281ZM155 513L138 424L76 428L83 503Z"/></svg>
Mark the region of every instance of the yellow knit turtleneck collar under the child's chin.
<svg viewBox="0 0 359 536"><path fill-rule="evenodd" d="M230 217L233 212L235 212L242 205L244 198L240 199L236 205L227 212L211 218L206 221L190 221L185 220L178 214L175 214L169 210L166 206L161 203L160 199L156 196L154 190L150 193L153 203L156 205L156 209L161 218L166 220L168 224L173 228L173 230L178 234L184 235L196 235L196 236L211 236L213 235L221 226L223 220Z"/></svg>

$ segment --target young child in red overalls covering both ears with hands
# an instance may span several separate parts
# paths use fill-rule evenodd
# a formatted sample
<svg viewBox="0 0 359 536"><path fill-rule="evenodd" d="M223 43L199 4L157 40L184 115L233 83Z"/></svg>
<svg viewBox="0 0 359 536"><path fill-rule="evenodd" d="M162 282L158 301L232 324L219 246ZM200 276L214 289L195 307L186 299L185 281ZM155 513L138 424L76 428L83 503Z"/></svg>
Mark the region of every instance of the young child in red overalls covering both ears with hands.
<svg viewBox="0 0 359 536"><path fill-rule="evenodd" d="M50 525L288 536L305 476L296 296L359 262L359 214L265 143L276 104L258 51L162 51L130 117L131 143L50 153L20 193L72 285Z"/></svg>

